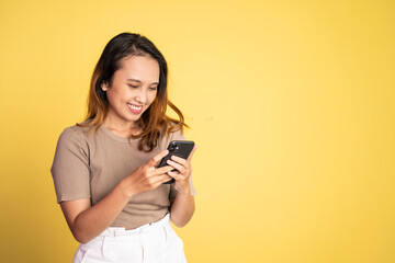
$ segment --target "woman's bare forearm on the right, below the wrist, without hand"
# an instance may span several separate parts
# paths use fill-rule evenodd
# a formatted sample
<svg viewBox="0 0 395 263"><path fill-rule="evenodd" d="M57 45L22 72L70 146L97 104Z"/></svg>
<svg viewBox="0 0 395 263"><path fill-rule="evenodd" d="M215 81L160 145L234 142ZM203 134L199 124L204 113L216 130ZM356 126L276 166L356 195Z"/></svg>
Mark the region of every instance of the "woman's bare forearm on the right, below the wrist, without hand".
<svg viewBox="0 0 395 263"><path fill-rule="evenodd" d="M195 210L194 197L190 188L178 192L170 208L170 219L179 228L185 226L192 218Z"/></svg>

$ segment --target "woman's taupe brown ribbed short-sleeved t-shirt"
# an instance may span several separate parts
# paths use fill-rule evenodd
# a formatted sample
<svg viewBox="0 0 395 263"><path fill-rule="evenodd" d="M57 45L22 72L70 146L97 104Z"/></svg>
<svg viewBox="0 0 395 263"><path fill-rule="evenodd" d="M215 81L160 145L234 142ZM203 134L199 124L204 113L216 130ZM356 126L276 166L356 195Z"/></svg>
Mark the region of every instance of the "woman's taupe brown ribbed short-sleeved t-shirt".
<svg viewBox="0 0 395 263"><path fill-rule="evenodd" d="M180 132L170 137L160 137L151 152L138 150L138 139L128 140L105 127L88 132L87 127L66 128L57 142L50 169L57 203L61 201L90 198L97 204L124 178L160 151L171 140L184 140ZM196 192L190 176L191 195ZM132 197L111 227L134 229L148 222L158 221L169 210L170 199L176 197L173 184L139 193Z"/></svg>

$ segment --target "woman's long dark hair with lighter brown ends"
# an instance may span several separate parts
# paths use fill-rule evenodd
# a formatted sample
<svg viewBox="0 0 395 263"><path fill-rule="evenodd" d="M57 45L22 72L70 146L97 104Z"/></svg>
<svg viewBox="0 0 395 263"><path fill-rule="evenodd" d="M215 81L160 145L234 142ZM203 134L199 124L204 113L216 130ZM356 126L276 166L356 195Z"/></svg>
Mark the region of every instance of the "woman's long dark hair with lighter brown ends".
<svg viewBox="0 0 395 263"><path fill-rule="evenodd" d="M109 112L109 101L101 84L112 83L114 72L122 66L121 59L128 56L150 56L159 64L157 96L136 122L143 133L131 136L132 139L142 138L139 150L151 151L158 144L160 133L163 133L163 136L179 129L182 133L183 126L188 127L188 125L181 111L168 99L168 67L165 57L154 43L143 35L124 32L106 44L91 78L86 119L77 125L98 129L103 124ZM179 119L166 115L167 105L178 114Z"/></svg>

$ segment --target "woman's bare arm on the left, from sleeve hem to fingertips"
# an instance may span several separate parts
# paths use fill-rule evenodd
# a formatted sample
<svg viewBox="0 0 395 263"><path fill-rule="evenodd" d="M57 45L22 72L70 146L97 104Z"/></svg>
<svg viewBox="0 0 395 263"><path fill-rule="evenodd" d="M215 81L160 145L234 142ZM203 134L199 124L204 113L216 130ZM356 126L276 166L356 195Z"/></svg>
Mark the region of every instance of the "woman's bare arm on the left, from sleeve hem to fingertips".
<svg viewBox="0 0 395 263"><path fill-rule="evenodd" d="M61 210L76 240L89 242L115 220L134 195L157 188L169 181L171 178L167 172L172 167L155 169L167 153L165 150L136 169L93 206L90 205L90 199L61 202Z"/></svg>

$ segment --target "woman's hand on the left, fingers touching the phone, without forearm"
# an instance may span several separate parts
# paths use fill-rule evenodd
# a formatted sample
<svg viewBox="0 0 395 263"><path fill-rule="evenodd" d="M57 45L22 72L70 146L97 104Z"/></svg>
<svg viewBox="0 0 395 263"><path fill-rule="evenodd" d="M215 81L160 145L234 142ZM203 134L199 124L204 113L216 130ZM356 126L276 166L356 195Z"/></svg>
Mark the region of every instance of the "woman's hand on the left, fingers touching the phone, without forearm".
<svg viewBox="0 0 395 263"><path fill-rule="evenodd" d="M172 167L156 168L168 152L168 150L159 152L122 181L123 190L129 198L135 194L155 190L171 180L168 172L173 169Z"/></svg>

